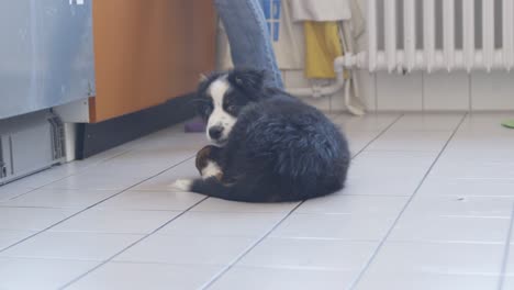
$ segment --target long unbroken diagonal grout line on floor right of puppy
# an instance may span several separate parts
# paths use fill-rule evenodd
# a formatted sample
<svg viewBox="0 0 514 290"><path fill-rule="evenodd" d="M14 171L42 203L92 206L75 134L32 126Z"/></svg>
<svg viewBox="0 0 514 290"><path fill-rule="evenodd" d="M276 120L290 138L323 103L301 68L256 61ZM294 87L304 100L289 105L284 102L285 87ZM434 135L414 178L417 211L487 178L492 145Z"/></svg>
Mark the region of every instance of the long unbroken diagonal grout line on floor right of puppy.
<svg viewBox="0 0 514 290"><path fill-rule="evenodd" d="M432 165L428 167L428 169L426 170L425 175L423 176L422 180L420 181L420 183L417 185L416 189L414 189L414 192L413 194L409 198L407 202L405 203L405 205L403 205L402 210L400 211L400 213L398 214L396 219L394 219L392 225L389 227L388 232L386 233L386 235L383 236L383 238L380 241L380 243L378 244L377 248L373 250L373 253L371 254L371 256L369 257L368 261L365 264L364 268L360 270L359 275L357 276L357 278L355 278L355 280L349 285L349 287L347 289L355 289L357 287L357 285L360 282L360 280L362 279L364 275L366 274L366 271L368 270L369 266L371 265L371 263L375 260L375 258L377 257L378 253L380 252L380 249L383 247L383 245L386 244L386 241L388 239L389 235L392 233L392 230L394 228L394 226L396 225L398 221L400 220L400 217L403 215L403 213L405 212L405 210L409 208L409 205L411 204L412 200L414 199L414 197L416 196L417 191L420 191L421 187L423 186L424 181L426 180L426 178L428 177L428 175L431 174L432 169L434 168L434 166L437 164L437 161L439 160L440 156L443 155L443 153L446 150L448 144L451 142L451 140L454 138L454 136L457 134L457 131L460 129L460 126L462 125L463 121L466 120L466 118L468 116L468 113L466 113L460 122L457 124L457 126L455 127L454 132L451 133L451 135L448 137L448 140L446 141L445 145L443 146L443 148L439 150L439 153L437 154L436 158L434 159L434 161L432 163Z"/></svg>

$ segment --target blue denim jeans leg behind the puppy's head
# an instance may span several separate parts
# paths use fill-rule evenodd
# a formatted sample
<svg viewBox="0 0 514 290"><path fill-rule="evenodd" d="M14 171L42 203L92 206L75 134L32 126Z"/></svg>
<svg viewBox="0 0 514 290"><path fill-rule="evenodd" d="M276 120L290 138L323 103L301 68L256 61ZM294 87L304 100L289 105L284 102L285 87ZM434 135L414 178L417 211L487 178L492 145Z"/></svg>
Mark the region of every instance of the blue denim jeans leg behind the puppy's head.
<svg viewBox="0 0 514 290"><path fill-rule="evenodd" d="M266 85L283 88L260 0L214 0L236 68L262 69Z"/></svg>

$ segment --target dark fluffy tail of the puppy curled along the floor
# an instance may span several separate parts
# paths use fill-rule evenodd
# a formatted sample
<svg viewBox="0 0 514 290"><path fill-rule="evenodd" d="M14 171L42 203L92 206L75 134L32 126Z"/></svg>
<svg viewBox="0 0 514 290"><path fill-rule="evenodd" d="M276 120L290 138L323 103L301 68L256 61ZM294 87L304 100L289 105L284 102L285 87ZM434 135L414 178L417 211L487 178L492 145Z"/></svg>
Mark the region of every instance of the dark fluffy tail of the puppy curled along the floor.
<svg viewBox="0 0 514 290"><path fill-rule="evenodd" d="M235 183L225 185L217 178L197 179L191 186L191 191L212 198L219 198L242 202L286 202L295 201L280 194L273 194L273 190L259 190L256 192L255 180L239 179Z"/></svg>

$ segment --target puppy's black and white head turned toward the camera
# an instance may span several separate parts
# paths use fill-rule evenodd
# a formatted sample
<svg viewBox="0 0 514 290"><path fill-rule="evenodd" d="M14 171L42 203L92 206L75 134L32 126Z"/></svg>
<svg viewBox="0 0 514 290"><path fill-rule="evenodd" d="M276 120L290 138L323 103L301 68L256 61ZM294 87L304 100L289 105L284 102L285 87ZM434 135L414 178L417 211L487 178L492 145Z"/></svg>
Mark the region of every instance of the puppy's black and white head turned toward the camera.
<svg viewBox="0 0 514 290"><path fill-rule="evenodd" d="M264 92L264 71L232 70L204 77L198 89L198 111L206 120L206 136L223 146L241 111Z"/></svg>

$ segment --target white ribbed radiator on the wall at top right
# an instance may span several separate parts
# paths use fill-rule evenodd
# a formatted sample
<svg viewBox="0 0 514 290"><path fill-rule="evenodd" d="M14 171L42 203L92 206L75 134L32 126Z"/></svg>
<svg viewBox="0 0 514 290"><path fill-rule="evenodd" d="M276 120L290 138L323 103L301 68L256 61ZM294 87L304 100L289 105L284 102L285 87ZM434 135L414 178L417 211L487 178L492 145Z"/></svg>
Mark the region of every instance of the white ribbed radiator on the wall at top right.
<svg viewBox="0 0 514 290"><path fill-rule="evenodd" d="M370 71L514 66L514 0L368 0L368 51L338 59Z"/></svg>

